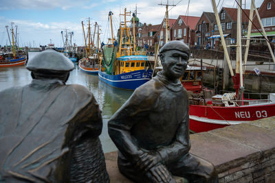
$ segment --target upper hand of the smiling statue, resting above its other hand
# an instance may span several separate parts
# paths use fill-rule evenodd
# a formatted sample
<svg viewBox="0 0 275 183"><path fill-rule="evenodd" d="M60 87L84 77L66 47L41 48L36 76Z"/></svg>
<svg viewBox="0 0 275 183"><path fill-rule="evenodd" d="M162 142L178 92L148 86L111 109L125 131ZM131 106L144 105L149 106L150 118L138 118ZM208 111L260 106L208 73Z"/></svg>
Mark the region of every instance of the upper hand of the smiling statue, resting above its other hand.
<svg viewBox="0 0 275 183"><path fill-rule="evenodd" d="M161 161L162 157L157 152L144 152L144 154L140 156L140 159L137 160L136 166L138 169L146 172Z"/></svg>

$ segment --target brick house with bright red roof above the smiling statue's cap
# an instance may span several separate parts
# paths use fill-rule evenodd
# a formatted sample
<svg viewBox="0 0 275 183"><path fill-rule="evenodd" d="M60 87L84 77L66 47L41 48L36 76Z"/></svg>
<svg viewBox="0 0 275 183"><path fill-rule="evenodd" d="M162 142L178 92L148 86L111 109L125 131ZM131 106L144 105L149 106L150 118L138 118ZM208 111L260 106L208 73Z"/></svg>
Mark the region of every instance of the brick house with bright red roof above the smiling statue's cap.
<svg viewBox="0 0 275 183"><path fill-rule="evenodd" d="M199 16L179 15L172 27L172 40L181 40L187 45L195 45L195 29Z"/></svg>

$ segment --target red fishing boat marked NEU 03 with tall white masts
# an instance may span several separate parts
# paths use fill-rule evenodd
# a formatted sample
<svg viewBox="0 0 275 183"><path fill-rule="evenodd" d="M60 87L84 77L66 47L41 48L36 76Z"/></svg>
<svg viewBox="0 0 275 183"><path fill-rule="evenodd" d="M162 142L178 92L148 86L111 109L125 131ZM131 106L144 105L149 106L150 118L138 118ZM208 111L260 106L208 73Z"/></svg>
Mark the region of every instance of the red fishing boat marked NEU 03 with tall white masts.
<svg viewBox="0 0 275 183"><path fill-rule="evenodd" d="M242 61L241 50L241 7L242 4L239 0L238 5L238 21L237 21L237 43L236 43L236 75L234 75L228 52L223 38L223 31L221 29L221 22L219 20L219 14L217 12L217 5L214 0L212 6L214 14L217 19L217 25L219 27L219 34L221 35L221 43L223 50L225 51L225 57L228 62L230 74L234 82L234 93L223 93L222 95L216 95L211 90L203 90L203 95L191 95L190 96L190 130L192 132L206 132L208 130L214 130L219 127L225 127L227 125L236 125L239 123L248 123L248 121L254 121L256 119L263 119L266 117L272 117L275 115L275 94L268 94L265 99L245 99L244 98L244 86L243 86L243 73L245 73L245 64L248 58L248 48L250 43L250 33L252 23L248 24L248 39L245 47L244 64ZM256 12L261 29L264 36L267 39L259 13L252 0L250 9L250 20ZM269 42L267 42L269 44ZM275 62L272 51L270 52Z"/></svg>

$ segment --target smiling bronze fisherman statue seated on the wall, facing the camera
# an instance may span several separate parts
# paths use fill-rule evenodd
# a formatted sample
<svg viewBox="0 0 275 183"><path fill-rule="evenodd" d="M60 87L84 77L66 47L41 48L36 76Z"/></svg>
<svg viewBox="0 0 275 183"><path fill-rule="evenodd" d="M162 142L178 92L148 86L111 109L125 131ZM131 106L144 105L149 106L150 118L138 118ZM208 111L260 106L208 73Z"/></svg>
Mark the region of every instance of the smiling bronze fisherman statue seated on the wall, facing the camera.
<svg viewBox="0 0 275 183"><path fill-rule="evenodd" d="M179 82L190 50L181 41L159 51L163 70L135 90L109 120L109 136L118 147L118 167L135 182L217 182L210 162L189 154L188 96Z"/></svg>

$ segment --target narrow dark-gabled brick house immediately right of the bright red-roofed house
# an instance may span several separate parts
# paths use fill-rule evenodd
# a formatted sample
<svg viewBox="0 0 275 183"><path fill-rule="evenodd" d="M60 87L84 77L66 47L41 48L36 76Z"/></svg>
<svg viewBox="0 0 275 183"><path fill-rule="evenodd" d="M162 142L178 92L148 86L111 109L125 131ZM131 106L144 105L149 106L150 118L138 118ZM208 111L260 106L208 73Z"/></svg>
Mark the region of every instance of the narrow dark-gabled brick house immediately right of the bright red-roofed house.
<svg viewBox="0 0 275 183"><path fill-rule="evenodd" d="M212 36L212 33L214 32L215 20L213 12L203 12L201 14L201 18L196 25L195 45L198 47L207 47L208 38Z"/></svg>

